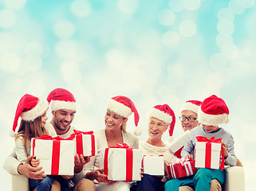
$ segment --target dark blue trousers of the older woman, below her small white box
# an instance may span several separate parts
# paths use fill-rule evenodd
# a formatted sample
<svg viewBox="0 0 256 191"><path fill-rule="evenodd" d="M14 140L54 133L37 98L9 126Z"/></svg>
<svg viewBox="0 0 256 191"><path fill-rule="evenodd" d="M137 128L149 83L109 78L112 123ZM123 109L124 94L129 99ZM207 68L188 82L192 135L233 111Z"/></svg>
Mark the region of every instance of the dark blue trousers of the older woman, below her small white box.
<svg viewBox="0 0 256 191"><path fill-rule="evenodd" d="M141 181L137 181L136 185L132 185L131 191L164 191L164 183L160 178L143 174Z"/></svg>

